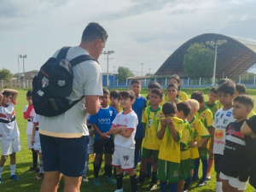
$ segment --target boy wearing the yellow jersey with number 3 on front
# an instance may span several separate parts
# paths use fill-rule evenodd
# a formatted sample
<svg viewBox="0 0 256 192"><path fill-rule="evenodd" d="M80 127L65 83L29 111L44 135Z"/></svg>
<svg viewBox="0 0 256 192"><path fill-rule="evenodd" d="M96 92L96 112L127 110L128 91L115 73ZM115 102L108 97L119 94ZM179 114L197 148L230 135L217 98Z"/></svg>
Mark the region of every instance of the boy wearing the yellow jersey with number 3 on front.
<svg viewBox="0 0 256 192"><path fill-rule="evenodd" d="M162 102L162 90L154 89L150 94L150 106L144 108L142 123L145 130L145 137L143 142L143 154L141 157L140 177L139 183L144 182L146 175L147 162L153 161L152 180L148 190L157 189L157 159L160 149L160 140L157 137L158 125L160 120L164 117L160 102ZM152 160L151 160L152 158Z"/></svg>

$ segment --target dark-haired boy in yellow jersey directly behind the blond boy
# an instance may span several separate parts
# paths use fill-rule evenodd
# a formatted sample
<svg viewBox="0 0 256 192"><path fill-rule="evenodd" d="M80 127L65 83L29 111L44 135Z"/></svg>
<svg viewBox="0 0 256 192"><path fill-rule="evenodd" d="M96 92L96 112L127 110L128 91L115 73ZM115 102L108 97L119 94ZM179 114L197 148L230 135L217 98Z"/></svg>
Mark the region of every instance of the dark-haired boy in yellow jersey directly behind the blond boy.
<svg viewBox="0 0 256 192"><path fill-rule="evenodd" d="M205 96L203 92L201 91L194 91L191 94L191 99L195 99L197 102L199 102L199 109L197 113L195 113L195 116L201 120L203 125L208 129L209 133L212 134L212 121L213 121L213 116L212 112L209 108L206 107L205 105ZM202 162L202 177L199 183L196 185L197 187L202 187L207 184L207 169L208 169L208 151L210 147L209 139L205 143L201 145L201 148L198 148L199 154L200 154L200 159ZM195 160L195 172L193 175L193 178L195 180L198 179L198 169L200 166L200 160L197 159Z"/></svg>

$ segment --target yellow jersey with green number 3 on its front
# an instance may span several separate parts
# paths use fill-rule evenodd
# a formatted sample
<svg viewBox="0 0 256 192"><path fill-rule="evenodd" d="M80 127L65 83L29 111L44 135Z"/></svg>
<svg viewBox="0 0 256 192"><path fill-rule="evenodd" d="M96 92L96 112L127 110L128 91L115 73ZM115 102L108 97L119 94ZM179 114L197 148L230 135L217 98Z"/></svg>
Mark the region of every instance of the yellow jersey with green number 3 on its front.
<svg viewBox="0 0 256 192"><path fill-rule="evenodd" d="M143 148L152 150L160 149L161 140L157 137L157 131L160 119L163 117L164 115L161 107L155 111L150 106L143 109L142 123L145 125Z"/></svg>

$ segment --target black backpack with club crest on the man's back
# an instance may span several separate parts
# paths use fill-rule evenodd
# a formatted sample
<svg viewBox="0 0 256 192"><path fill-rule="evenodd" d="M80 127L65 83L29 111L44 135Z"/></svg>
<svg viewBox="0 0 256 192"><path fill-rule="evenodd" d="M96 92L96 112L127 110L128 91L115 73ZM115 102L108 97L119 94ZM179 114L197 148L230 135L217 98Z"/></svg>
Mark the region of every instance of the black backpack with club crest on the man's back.
<svg viewBox="0 0 256 192"><path fill-rule="evenodd" d="M53 117L65 113L84 97L71 103L66 98L73 90L72 67L83 61L96 61L96 59L90 55L79 55L73 60L67 61L68 49L70 47L63 47L56 58L50 57L40 68L38 76L35 76L32 81L33 107L35 112L40 115Z"/></svg>

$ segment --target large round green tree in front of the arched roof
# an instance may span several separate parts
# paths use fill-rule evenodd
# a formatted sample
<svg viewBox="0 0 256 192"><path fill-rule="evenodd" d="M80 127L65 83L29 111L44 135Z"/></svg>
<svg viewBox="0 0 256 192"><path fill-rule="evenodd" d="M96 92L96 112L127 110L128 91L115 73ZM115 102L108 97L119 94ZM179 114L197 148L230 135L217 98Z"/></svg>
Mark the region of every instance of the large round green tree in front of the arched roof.
<svg viewBox="0 0 256 192"><path fill-rule="evenodd" d="M183 69L190 79L210 77L213 65L214 52L204 44L191 44L184 55Z"/></svg>

